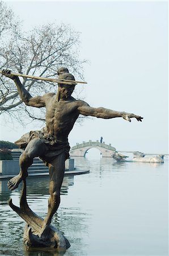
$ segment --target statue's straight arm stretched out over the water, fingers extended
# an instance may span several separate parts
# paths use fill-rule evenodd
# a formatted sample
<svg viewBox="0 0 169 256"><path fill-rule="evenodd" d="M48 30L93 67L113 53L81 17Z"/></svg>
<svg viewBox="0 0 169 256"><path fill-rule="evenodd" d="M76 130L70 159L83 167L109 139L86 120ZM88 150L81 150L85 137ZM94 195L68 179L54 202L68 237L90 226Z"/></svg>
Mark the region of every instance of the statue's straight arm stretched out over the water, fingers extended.
<svg viewBox="0 0 169 256"><path fill-rule="evenodd" d="M135 115L131 113L126 112L118 112L111 109L105 109L105 108L91 108L88 105L79 106L78 108L79 113L82 115L91 115L92 117L98 117L98 118L115 118L115 117L122 117L125 120L131 122L130 118L136 118L137 121L142 121L143 117L140 115Z"/></svg>

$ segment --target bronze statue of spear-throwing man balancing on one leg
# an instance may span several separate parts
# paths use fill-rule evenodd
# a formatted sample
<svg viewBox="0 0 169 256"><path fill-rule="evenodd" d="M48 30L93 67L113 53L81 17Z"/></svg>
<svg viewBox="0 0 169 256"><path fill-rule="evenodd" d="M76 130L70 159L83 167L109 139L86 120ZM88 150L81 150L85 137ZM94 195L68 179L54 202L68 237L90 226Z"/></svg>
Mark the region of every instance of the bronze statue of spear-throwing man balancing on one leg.
<svg viewBox="0 0 169 256"><path fill-rule="evenodd" d="M65 73L65 71L59 73L58 80L72 80L71 85L60 83L58 84L57 94L47 93L44 96L37 97L32 97L29 94L18 76L11 75L10 71L2 71L2 73L14 80L19 95L26 105L36 108L46 107L46 126L44 129L41 131L31 131L16 142L16 144L19 144L25 150L19 159L20 172L17 176L9 180L8 186L13 190L18 187L23 179L26 179L28 176L27 170L31 166L33 158L39 156L47 162L50 175L50 197L48 213L39 234L41 240L47 240L50 222L53 214L60 205L60 189L64 178L65 160L69 158L70 150L68 135L71 129L73 129L79 114L105 119L122 117L129 122L131 121L130 118L136 118L137 121L142 121L142 117L111 109L92 108L82 100L75 100L71 96L75 88L74 76L70 73Z"/></svg>

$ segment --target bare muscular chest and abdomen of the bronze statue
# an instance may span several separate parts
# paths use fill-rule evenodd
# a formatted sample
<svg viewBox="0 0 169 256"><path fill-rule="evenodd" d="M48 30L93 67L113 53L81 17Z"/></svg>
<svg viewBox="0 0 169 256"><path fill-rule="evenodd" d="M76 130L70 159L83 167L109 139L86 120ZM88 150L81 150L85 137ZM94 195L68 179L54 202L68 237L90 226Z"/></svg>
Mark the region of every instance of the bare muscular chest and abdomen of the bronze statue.
<svg viewBox="0 0 169 256"><path fill-rule="evenodd" d="M46 106L45 132L54 136L57 141L66 142L67 137L78 118L78 106L82 101L69 97L57 102L56 94L44 97Z"/></svg>

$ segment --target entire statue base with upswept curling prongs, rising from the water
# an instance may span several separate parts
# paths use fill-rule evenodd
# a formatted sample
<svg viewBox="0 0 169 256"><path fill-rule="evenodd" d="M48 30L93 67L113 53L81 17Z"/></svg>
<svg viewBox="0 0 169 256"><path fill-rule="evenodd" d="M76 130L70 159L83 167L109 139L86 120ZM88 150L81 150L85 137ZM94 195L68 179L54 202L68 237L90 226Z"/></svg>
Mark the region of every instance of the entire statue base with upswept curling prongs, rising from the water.
<svg viewBox="0 0 169 256"><path fill-rule="evenodd" d="M48 230L49 238L42 240L39 236L41 229L43 228L44 220L33 212L27 203L26 197L26 180L23 180L22 194L20 197L20 207L17 207L12 203L12 199L9 200L9 205L23 220L26 221L26 227L24 229L24 243L29 247L49 247L50 249L66 250L70 247L69 241L66 237L54 226L50 225Z"/></svg>

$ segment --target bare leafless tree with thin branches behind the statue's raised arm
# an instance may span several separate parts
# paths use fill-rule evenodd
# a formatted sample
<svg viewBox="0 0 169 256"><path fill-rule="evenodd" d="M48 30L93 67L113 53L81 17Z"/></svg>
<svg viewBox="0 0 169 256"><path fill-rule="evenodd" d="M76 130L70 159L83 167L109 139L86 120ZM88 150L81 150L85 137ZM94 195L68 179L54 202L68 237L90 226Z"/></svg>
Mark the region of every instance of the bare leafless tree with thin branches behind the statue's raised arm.
<svg viewBox="0 0 169 256"><path fill-rule="evenodd" d="M57 77L61 66L69 69L78 79L83 79L83 63L79 59L79 36L70 25L45 24L31 31L21 30L19 19L4 2L0 2L0 69L44 77ZM52 82L22 79L24 87L32 96L56 92ZM14 82L1 76L0 114L10 115L23 122L44 120L44 110L35 110L22 104Z"/></svg>

